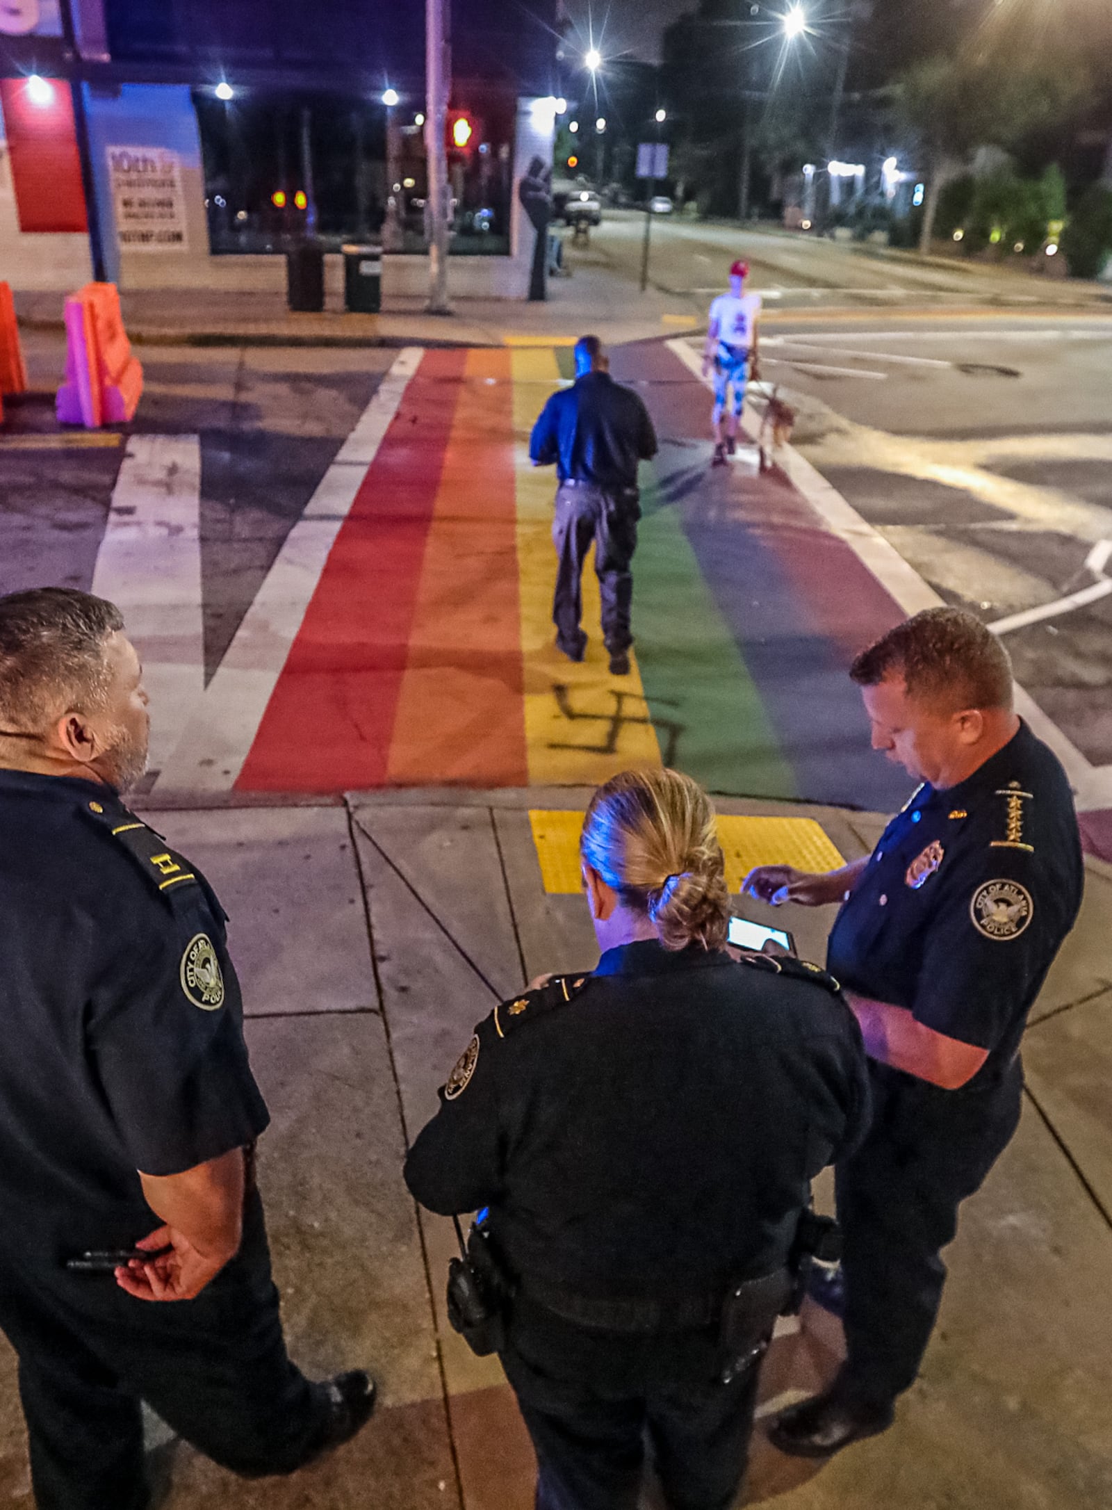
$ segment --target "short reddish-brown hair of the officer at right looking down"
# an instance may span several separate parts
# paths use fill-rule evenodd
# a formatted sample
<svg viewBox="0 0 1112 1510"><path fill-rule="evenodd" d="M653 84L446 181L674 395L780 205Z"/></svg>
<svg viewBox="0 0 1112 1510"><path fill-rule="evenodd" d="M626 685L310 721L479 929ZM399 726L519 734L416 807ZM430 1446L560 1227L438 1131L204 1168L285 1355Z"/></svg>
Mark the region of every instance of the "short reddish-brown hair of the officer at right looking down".
<svg viewBox="0 0 1112 1510"><path fill-rule="evenodd" d="M964 609L923 609L854 660L860 687L902 676L908 696L961 708L1011 708L1011 657L999 637Z"/></svg>

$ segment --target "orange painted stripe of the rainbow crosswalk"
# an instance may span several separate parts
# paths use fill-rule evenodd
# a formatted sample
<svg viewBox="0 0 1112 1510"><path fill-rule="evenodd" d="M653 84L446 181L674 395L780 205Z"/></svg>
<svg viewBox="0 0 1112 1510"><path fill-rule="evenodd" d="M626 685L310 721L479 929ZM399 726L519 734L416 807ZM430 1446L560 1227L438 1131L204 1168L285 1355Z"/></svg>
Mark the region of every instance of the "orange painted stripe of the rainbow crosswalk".
<svg viewBox="0 0 1112 1510"><path fill-rule="evenodd" d="M524 787L521 602L507 350L471 350L433 522L386 782Z"/></svg>

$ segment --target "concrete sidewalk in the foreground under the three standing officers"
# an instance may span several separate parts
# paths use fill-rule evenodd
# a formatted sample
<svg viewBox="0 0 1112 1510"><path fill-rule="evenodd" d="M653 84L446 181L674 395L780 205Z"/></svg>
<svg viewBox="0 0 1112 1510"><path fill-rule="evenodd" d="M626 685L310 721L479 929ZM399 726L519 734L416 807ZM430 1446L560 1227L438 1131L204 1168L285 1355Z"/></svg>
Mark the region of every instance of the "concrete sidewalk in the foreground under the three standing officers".
<svg viewBox="0 0 1112 1510"><path fill-rule="evenodd" d="M531 1451L501 1371L445 1324L451 1226L415 1210L400 1166L495 998L537 971L594 963L582 900L545 889L545 874L560 883L560 855L549 852L542 873L530 821L531 809L581 811L587 796L433 788L148 814L204 867L232 918L252 1059L273 1113L261 1181L293 1351L317 1374L370 1364L382 1386L362 1436L290 1481L238 1483L166 1444L167 1510L531 1504ZM718 808L815 818L845 858L869 849L884 821L786 803ZM548 829L573 843L573 821ZM942 1326L895 1430L828 1466L785 1459L759 1434L745 1502L1112 1502L1110 908L1112 868L1091 862L1080 923L1028 1033L1020 1134L966 1210ZM806 911L788 920L812 957L828 924ZM828 1377L837 1347L822 1312L785 1327L765 1367L765 1412ZM5 1350L0 1504L27 1495Z"/></svg>

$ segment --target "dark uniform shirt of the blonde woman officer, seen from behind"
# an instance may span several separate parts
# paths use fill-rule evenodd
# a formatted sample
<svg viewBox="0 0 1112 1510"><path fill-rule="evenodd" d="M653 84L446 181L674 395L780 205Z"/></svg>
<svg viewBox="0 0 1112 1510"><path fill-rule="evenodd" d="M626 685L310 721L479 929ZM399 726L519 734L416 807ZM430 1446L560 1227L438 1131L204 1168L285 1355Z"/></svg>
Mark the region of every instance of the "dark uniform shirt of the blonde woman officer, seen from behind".
<svg viewBox="0 0 1112 1510"><path fill-rule="evenodd" d="M527 1287L643 1299L774 1270L868 1114L852 1013L791 969L644 941L504 1003L409 1154L410 1191L490 1205Z"/></svg>

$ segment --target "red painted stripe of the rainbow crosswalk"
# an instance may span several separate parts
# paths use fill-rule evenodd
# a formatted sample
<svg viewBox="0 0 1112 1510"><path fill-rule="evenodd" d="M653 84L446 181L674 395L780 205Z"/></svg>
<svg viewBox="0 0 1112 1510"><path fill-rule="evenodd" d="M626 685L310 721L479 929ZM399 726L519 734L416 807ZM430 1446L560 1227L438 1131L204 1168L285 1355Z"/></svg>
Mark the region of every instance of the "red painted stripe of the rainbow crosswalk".
<svg viewBox="0 0 1112 1510"><path fill-rule="evenodd" d="M465 352L425 352L359 488L243 766L241 791L386 781Z"/></svg>

